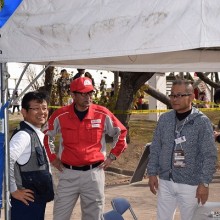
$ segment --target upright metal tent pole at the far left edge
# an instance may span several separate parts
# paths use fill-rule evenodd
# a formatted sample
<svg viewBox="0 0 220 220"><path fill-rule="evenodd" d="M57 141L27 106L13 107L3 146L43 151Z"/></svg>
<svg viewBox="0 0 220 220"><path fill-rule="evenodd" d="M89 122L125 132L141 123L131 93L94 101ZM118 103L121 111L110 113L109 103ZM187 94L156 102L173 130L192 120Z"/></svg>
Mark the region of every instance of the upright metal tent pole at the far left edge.
<svg viewBox="0 0 220 220"><path fill-rule="evenodd" d="M1 107L7 103L8 101L8 78L9 74L7 71L6 63L1 63L0 64L0 72L1 72ZM4 203L5 203L5 220L10 220L10 189L9 189L9 160L10 160L10 155L9 155L9 139L8 139L8 133L9 133L9 128L8 128L8 107L4 108L4 117L3 117L3 130L4 130L4 135L5 135L5 169L4 169Z"/></svg>

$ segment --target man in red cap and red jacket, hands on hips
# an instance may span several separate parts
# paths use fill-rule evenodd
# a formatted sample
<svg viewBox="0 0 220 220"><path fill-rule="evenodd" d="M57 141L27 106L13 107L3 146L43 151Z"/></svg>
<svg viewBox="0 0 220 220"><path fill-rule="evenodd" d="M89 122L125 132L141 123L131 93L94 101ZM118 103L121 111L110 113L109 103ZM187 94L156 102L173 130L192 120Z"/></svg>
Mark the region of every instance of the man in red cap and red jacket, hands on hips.
<svg viewBox="0 0 220 220"><path fill-rule="evenodd" d="M91 79L72 81L74 102L56 110L45 126L44 144L52 165L59 171L54 220L69 220L80 197L82 219L103 219L104 169L126 148L126 128L105 107L92 104ZM53 152L53 139L60 135L59 152ZM105 135L113 137L106 156Z"/></svg>

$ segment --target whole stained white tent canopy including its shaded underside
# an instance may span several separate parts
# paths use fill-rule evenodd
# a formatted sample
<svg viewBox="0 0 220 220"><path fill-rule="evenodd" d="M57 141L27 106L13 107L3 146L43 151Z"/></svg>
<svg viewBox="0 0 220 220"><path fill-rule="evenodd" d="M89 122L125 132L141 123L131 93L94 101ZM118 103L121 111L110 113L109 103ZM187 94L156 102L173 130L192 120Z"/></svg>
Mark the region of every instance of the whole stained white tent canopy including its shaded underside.
<svg viewBox="0 0 220 220"><path fill-rule="evenodd" d="M220 68L219 0L23 0L0 62L131 71ZM217 57L216 57L217 56Z"/></svg>

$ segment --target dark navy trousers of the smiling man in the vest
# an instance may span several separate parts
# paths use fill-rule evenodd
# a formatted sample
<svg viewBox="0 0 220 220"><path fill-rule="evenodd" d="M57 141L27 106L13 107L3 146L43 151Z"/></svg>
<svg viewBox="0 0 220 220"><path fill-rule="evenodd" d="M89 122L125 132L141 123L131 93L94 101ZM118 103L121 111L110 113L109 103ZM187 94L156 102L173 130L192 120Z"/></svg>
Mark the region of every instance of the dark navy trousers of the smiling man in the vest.
<svg viewBox="0 0 220 220"><path fill-rule="evenodd" d="M44 220L46 203L29 202L29 206L11 197L11 220Z"/></svg>

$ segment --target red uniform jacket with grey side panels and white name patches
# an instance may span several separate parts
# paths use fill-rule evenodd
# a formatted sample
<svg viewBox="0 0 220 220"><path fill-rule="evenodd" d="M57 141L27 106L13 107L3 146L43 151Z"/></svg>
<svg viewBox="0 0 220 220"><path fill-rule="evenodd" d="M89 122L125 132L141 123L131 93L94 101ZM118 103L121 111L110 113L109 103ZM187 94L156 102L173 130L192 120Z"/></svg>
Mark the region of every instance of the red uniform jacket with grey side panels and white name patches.
<svg viewBox="0 0 220 220"><path fill-rule="evenodd" d="M113 137L111 153L119 156L126 148L126 128L105 107L91 104L85 118L80 121L74 112L74 103L56 110L44 128L49 160L56 158L53 138L60 134L59 157L63 163L82 166L104 161L105 134Z"/></svg>

